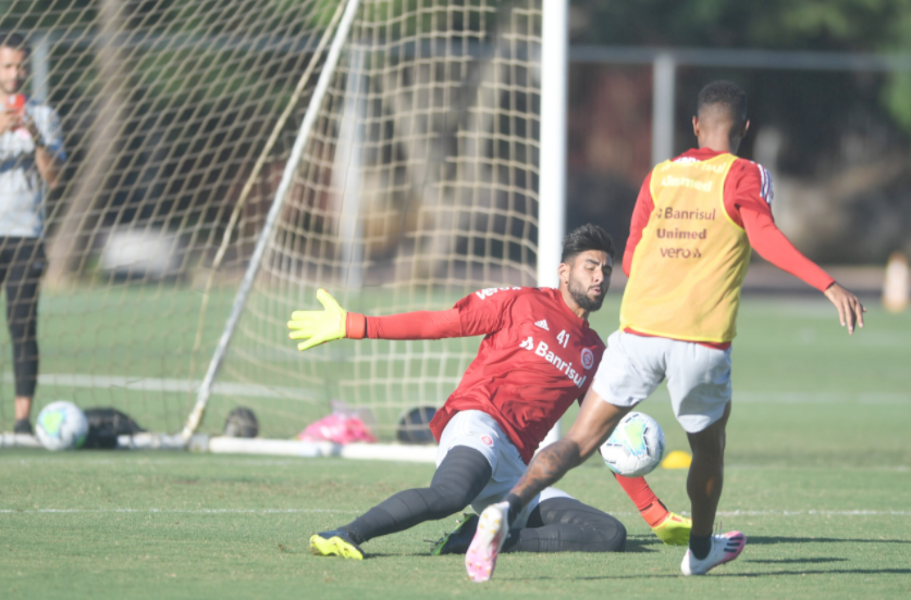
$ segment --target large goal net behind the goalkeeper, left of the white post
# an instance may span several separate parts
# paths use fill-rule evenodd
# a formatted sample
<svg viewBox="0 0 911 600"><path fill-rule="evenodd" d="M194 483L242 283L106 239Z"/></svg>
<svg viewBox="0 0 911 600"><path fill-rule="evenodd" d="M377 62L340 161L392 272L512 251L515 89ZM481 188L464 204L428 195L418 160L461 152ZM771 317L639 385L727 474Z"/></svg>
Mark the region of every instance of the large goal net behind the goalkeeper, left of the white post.
<svg viewBox="0 0 911 600"><path fill-rule="evenodd" d="M246 407L288 438L337 400L394 440L480 340L299 353L291 313L321 287L380 315L537 284L540 0L10 4L69 154L33 420L66 399L175 433L209 373L199 432Z"/></svg>

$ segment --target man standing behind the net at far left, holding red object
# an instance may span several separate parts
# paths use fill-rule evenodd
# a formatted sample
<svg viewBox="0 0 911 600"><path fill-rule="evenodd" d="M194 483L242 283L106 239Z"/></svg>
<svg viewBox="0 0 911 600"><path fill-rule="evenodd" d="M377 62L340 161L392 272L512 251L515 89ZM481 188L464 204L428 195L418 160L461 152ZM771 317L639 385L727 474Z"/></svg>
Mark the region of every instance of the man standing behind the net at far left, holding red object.
<svg viewBox="0 0 911 600"><path fill-rule="evenodd" d="M15 33L0 33L0 282L15 374L14 432L30 434L38 379L38 288L45 271L44 200L65 160L60 120L22 93L32 49Z"/></svg>

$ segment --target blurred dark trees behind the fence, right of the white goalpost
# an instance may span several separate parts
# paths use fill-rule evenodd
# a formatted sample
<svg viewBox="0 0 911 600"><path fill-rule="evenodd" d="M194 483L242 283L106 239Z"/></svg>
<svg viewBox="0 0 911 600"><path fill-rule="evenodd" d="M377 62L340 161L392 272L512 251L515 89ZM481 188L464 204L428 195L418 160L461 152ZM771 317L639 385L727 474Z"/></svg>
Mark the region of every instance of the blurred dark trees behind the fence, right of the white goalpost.
<svg viewBox="0 0 911 600"><path fill-rule="evenodd" d="M576 45L911 52L911 0L574 0ZM618 241L651 168L651 68L570 71L570 224L600 218ZM750 96L741 155L773 170L776 218L812 258L881 262L911 252L911 74L680 65L675 150L694 143L712 79ZM849 240L846 242L846 240Z"/></svg>

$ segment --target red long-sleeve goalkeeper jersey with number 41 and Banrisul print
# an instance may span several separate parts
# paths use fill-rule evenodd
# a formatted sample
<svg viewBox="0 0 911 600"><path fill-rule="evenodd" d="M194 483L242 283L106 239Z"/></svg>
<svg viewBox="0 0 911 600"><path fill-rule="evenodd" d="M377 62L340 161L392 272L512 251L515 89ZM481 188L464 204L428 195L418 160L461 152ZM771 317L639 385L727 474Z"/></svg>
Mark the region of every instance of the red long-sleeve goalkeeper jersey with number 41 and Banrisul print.
<svg viewBox="0 0 911 600"><path fill-rule="evenodd" d="M604 342L552 288L489 288L447 311L348 314L348 337L440 339L484 336L478 357L436 411L439 440L459 411L494 418L528 462L574 400L584 396Z"/></svg>

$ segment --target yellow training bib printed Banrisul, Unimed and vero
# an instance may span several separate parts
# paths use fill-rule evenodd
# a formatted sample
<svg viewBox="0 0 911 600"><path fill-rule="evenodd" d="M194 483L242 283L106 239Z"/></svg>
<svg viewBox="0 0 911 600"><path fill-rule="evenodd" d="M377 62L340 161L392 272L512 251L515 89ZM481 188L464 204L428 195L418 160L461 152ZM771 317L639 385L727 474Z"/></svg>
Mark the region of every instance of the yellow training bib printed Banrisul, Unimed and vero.
<svg viewBox="0 0 911 600"><path fill-rule="evenodd" d="M652 171L655 208L642 230L620 307L620 328L689 341L736 335L750 242L724 205L737 157L665 161Z"/></svg>

